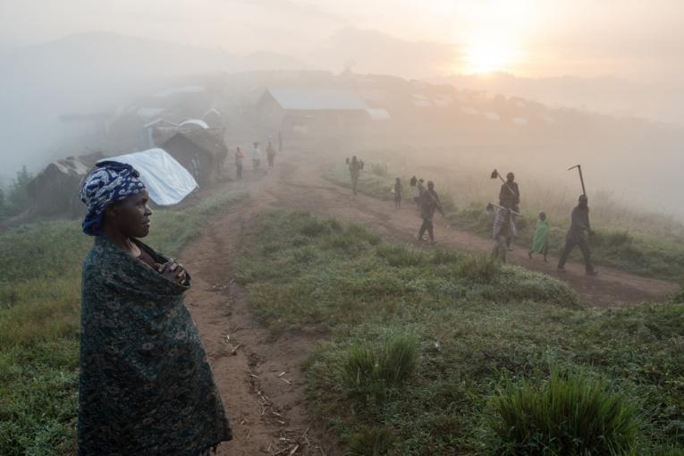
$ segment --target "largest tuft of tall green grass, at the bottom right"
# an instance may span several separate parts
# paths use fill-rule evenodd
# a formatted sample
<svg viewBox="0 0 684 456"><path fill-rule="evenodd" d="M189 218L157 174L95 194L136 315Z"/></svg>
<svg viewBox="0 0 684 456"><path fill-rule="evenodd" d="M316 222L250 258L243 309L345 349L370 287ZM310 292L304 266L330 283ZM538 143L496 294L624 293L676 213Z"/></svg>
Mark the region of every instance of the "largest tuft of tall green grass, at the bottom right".
<svg viewBox="0 0 684 456"><path fill-rule="evenodd" d="M637 442L636 410L581 374L552 371L547 384L510 387L494 410L500 454L625 454Z"/></svg>

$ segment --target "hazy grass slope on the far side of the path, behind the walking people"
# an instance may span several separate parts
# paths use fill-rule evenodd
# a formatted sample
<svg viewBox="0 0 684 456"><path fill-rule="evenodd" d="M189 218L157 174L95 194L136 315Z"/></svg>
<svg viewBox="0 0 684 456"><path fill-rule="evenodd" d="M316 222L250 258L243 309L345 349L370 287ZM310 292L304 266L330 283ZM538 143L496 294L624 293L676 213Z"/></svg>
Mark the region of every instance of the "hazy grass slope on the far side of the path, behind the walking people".
<svg viewBox="0 0 684 456"><path fill-rule="evenodd" d="M374 198L392 199L391 189L396 176L391 173L391 170L387 171L382 165L369 164L359 178L359 192ZM349 173L343 165L329 170L325 173L325 178L350 187ZM409 199L406 201L408 205L411 204L415 191L409 186L409 181L410 174L401 174L401 182ZM488 201L498 202L492 199L498 193L494 192L489 195L490 199L486 199L485 189L477 190L476 186L465 192L450 186L448 181L441 188L439 185L440 182L437 181L437 192L443 199L450 223L462 230L491 237L492 218L486 214L485 207ZM525 203L527 207L545 207L552 226L549 253L557 256L565 242L565 232L570 225L570 211L574 203L545 189L530 193L547 198L543 202L537 196L532 201L526 199ZM454 195L460 195L460 198ZM536 217L536 213L523 208L516 241L519 248L529 248L534 236ZM607 197L595 198L591 202L591 222L597 233L589 240L596 264L677 283L684 281L684 226L681 224L664 216L630 212ZM624 229L625 226L629 226L630 230ZM581 259L578 249L573 253L573 258Z"/></svg>

